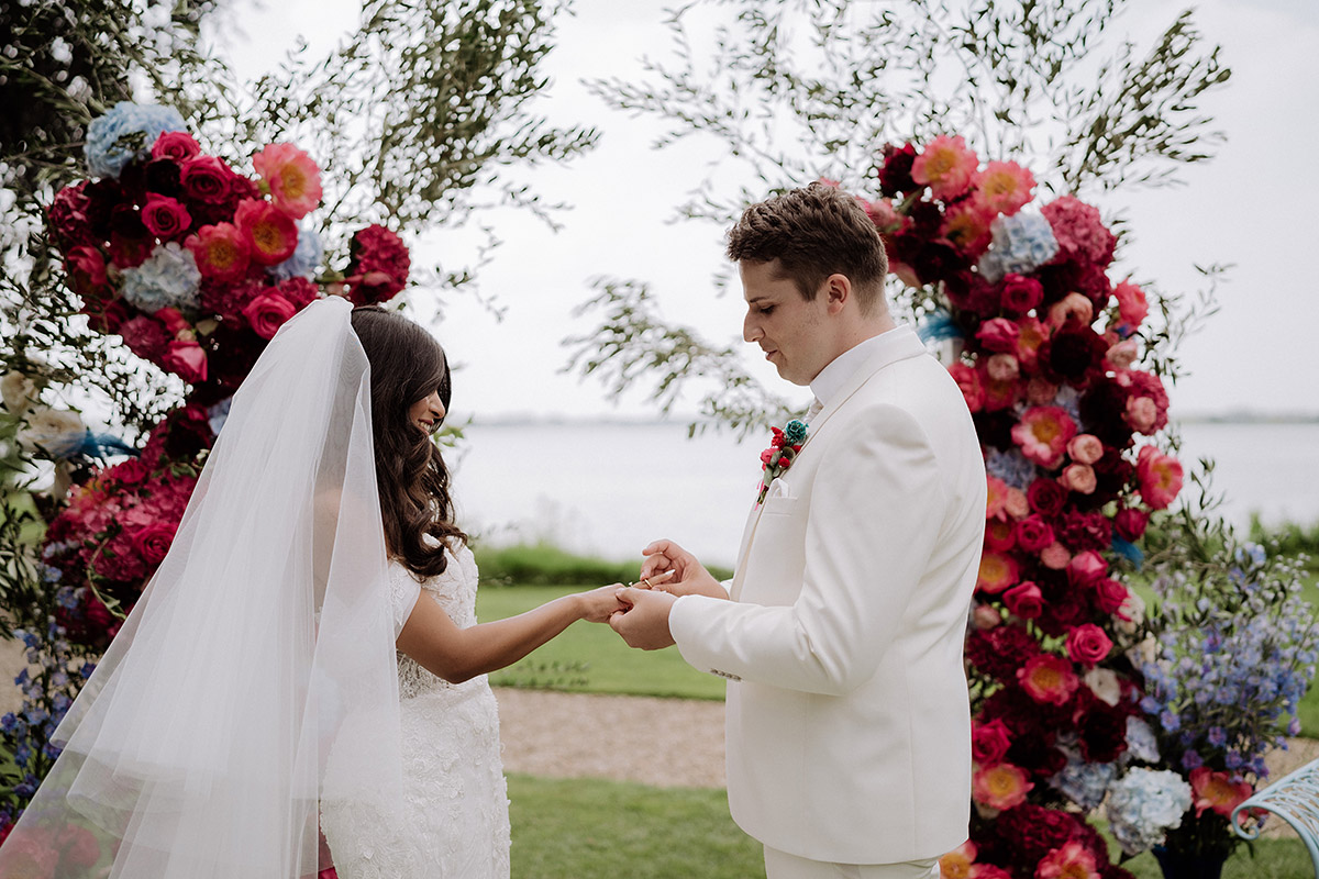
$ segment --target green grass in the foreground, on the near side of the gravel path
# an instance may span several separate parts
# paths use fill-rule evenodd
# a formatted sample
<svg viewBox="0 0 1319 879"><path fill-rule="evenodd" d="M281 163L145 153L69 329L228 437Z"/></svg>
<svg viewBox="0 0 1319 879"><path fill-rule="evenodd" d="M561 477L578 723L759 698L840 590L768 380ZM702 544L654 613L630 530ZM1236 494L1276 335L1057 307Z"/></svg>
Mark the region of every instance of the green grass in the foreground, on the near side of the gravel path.
<svg viewBox="0 0 1319 879"><path fill-rule="evenodd" d="M732 818L723 791L510 775L513 875L518 879L761 879L760 843ZM1237 849L1223 879L1307 879L1298 839ZM1161 879L1154 855L1122 865Z"/></svg>

